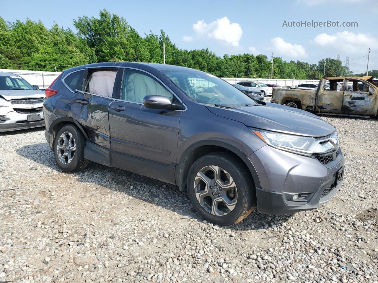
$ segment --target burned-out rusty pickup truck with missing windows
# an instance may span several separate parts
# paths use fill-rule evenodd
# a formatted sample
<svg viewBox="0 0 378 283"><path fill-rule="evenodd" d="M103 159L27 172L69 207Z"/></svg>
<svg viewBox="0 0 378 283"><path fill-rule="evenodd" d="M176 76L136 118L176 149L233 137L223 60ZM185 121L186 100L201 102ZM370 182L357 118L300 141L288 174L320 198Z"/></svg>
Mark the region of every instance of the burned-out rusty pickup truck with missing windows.
<svg viewBox="0 0 378 283"><path fill-rule="evenodd" d="M372 76L322 78L316 90L274 88L271 102L328 115L377 116L378 83Z"/></svg>

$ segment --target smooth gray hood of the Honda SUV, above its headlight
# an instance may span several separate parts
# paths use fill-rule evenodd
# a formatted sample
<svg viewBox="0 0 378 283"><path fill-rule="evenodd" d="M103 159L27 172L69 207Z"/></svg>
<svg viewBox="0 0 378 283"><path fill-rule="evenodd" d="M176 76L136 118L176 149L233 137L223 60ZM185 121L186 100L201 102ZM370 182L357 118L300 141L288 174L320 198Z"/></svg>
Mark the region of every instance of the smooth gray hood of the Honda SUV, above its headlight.
<svg viewBox="0 0 378 283"><path fill-rule="evenodd" d="M213 114L246 126L308 137L324 137L336 131L330 123L300 109L266 102L266 105L224 109L206 106Z"/></svg>

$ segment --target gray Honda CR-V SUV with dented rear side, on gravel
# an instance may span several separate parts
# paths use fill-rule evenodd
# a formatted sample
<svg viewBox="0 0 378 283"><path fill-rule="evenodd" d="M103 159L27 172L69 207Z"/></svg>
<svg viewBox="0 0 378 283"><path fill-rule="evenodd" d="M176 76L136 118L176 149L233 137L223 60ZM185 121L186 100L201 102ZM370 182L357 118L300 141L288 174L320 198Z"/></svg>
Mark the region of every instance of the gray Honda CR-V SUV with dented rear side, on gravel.
<svg viewBox="0 0 378 283"><path fill-rule="evenodd" d="M88 160L187 190L219 225L318 208L342 184L334 126L253 100L214 75L150 63L65 70L46 89L46 139L57 165Z"/></svg>

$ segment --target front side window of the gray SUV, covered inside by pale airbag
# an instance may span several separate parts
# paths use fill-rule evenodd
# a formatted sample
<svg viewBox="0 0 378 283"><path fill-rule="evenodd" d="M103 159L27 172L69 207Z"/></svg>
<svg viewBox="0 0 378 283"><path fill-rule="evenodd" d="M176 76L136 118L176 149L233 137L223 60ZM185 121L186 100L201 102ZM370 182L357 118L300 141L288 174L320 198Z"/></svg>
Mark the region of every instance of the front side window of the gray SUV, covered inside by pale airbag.
<svg viewBox="0 0 378 283"><path fill-rule="evenodd" d="M172 93L153 78L139 73L133 73L127 80L125 100L143 103L146 95L164 95L172 102Z"/></svg>

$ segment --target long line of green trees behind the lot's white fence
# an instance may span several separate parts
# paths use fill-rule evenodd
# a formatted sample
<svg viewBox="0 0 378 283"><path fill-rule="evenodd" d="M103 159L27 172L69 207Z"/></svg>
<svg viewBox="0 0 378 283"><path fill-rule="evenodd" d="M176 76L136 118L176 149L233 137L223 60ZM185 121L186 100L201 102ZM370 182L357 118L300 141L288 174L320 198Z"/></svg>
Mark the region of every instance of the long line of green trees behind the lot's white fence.
<svg viewBox="0 0 378 283"><path fill-rule="evenodd" d="M77 32L59 27L47 29L41 21L26 19L14 23L0 17L0 68L35 71L62 71L78 65L96 62L163 63L163 43L166 64L209 72L218 77L270 78L271 61L263 54L239 54L222 57L206 49L177 48L168 35L141 36L126 19L105 9L99 17L79 17L73 20ZM273 58L273 78L319 79L346 76L351 72L340 60L325 58L318 64L301 61L287 62Z"/></svg>

